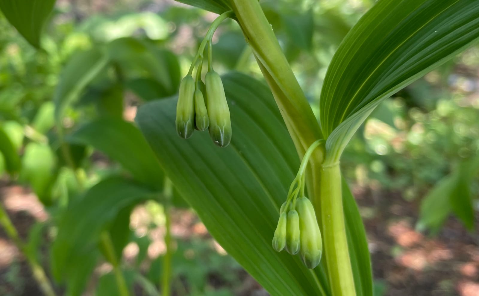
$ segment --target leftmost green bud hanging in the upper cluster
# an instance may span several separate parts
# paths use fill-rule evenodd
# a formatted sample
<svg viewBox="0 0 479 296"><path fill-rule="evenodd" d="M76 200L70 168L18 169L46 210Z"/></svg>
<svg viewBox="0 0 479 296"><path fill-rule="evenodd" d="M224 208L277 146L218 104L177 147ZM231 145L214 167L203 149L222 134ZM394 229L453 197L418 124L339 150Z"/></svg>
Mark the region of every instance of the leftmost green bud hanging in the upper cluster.
<svg viewBox="0 0 479 296"><path fill-rule="evenodd" d="M194 79L185 76L180 83L180 93L176 104L176 132L184 139L194 131Z"/></svg>

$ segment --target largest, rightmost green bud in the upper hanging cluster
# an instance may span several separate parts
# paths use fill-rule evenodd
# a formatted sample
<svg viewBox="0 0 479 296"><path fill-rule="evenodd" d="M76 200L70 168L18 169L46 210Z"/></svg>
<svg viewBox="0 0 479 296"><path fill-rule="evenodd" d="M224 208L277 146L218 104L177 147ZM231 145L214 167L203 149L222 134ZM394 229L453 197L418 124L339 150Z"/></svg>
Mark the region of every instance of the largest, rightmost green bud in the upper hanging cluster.
<svg viewBox="0 0 479 296"><path fill-rule="evenodd" d="M217 72L209 71L205 76L205 85L210 137L219 147L226 147L232 132L223 82Z"/></svg>

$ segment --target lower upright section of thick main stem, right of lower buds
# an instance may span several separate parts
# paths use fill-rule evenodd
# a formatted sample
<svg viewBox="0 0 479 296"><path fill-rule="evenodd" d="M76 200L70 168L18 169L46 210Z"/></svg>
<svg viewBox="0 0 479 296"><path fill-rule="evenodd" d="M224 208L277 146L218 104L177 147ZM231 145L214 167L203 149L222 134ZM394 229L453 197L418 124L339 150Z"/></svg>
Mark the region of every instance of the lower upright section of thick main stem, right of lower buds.
<svg viewBox="0 0 479 296"><path fill-rule="evenodd" d="M331 292L334 296L355 296L342 207L339 162L323 166L321 184L322 231Z"/></svg>

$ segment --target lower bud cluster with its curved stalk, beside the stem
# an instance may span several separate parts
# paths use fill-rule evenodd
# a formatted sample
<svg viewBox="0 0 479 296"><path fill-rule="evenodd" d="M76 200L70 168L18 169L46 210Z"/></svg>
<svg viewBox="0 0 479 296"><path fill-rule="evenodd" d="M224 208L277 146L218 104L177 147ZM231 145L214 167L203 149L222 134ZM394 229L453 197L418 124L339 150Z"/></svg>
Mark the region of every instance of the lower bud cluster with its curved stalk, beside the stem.
<svg viewBox="0 0 479 296"><path fill-rule="evenodd" d="M304 264L311 269L318 266L323 245L314 207L304 194L305 169L312 151L322 143L323 140L316 141L308 148L279 211L272 243L278 252L286 249L292 255L300 253Z"/></svg>

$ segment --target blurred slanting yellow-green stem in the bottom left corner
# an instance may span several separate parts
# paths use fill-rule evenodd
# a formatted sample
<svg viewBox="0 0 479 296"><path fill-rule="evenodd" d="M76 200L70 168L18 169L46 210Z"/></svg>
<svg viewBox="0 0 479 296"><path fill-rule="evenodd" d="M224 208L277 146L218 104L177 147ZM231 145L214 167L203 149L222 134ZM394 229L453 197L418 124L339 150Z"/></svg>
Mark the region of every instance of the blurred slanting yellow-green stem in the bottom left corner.
<svg viewBox="0 0 479 296"><path fill-rule="evenodd" d="M42 290L45 296L56 296L53 287L46 276L45 270L43 267L34 260L31 256L28 255L25 244L23 243L22 239L18 235L17 229L11 222L7 211L3 208L3 205L0 204L0 225L5 229L5 232L9 236L9 238L15 243L17 248L23 253L25 256L26 261L30 265L32 269L33 277L37 283L37 285Z"/></svg>

